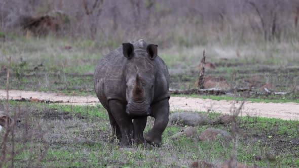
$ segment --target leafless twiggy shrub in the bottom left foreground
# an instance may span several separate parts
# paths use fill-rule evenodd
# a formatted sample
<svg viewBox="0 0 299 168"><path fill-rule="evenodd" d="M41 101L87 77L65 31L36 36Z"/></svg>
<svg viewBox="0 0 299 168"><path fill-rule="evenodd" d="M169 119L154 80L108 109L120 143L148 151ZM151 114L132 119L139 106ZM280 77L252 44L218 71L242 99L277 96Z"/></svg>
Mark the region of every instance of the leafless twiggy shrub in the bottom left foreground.
<svg viewBox="0 0 299 168"><path fill-rule="evenodd" d="M19 117L22 116L24 125L18 124ZM27 167L40 166L42 159L48 152L49 145L44 140L45 132L41 130L30 130L29 118L25 112L18 109L11 122L6 123L0 139L0 167L15 165L15 159L23 152L29 153ZM24 127L20 129L20 127ZM41 127L38 127L41 128ZM31 145L33 141L40 141L39 147ZM35 148L35 149L34 149ZM39 157L33 158L33 150L40 149ZM34 163L34 165L32 165Z"/></svg>

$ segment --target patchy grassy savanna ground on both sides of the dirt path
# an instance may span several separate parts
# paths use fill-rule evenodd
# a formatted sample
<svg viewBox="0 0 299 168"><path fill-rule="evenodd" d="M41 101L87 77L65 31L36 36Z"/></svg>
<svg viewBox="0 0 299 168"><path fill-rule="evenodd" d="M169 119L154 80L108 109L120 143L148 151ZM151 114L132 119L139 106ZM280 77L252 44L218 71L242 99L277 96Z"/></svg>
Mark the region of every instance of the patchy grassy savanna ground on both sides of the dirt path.
<svg viewBox="0 0 299 168"><path fill-rule="evenodd" d="M196 87L197 65L203 50L206 51L207 61L216 66L216 69L207 69L206 75L224 77L232 88L249 87L252 84L246 79L257 78L251 94L193 97L297 102L299 59L296 54L299 51L296 45L269 42L239 46L238 51L233 50L236 46L226 44L192 48L159 46L159 55L169 67L172 89ZM71 49L66 46L71 46ZM0 88L6 88L7 58L12 56L10 89L95 96L93 71L96 62L108 51L98 49L97 41L94 40L11 36L10 40L1 44L4 57L0 58ZM285 57L281 58L281 55ZM266 83L275 85L276 92L288 94L264 94L258 88ZM108 116L100 105L61 106L10 101L9 106L11 115L16 111L23 112L14 136L15 149L24 147L14 158L14 165L18 167L189 167L196 160L219 164L229 160L232 154L233 143L221 139L215 142L197 142L186 137L170 139L170 136L184 129L177 125L167 127L161 148L135 146L132 149L121 149L117 142L111 142ZM0 110L6 111L6 101L1 101ZM174 112L181 111L171 111ZM211 118L218 115L208 113ZM238 117L237 123L240 129L237 150L239 162L271 167L299 166L298 121L247 116ZM152 125L153 119L149 118L146 131ZM207 128L223 129L231 133L230 124L196 127L198 133ZM2 137L4 132L0 135ZM7 158L10 156L8 153ZM10 164L11 160L5 166Z"/></svg>

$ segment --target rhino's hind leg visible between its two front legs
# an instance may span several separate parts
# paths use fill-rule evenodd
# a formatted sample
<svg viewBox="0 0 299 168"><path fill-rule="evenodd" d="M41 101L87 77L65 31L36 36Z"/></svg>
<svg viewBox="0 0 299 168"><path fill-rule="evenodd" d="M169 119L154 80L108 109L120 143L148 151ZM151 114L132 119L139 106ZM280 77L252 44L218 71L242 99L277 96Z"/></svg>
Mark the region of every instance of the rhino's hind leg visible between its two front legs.
<svg viewBox="0 0 299 168"><path fill-rule="evenodd" d="M135 118L133 123L134 123L134 142L136 144L145 144L145 140L143 137L143 131L146 126L146 120L147 116L145 117L138 117Z"/></svg>

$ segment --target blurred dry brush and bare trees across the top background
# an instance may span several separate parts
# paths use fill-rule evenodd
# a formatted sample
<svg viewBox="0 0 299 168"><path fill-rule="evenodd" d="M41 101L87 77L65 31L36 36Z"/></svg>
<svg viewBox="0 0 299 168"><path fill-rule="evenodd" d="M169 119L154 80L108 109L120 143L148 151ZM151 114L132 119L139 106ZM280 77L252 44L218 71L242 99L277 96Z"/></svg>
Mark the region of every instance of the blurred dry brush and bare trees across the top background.
<svg viewBox="0 0 299 168"><path fill-rule="evenodd" d="M296 0L3 0L3 33L53 33L118 47L145 38L169 48L297 41ZM20 31L25 30L25 31Z"/></svg>

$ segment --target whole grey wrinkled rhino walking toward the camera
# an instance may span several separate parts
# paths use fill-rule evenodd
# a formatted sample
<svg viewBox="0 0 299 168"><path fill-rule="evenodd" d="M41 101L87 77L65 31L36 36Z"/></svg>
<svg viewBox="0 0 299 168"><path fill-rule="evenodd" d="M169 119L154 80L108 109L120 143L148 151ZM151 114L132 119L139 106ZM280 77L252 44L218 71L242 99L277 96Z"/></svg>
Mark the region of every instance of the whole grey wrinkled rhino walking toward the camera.
<svg viewBox="0 0 299 168"><path fill-rule="evenodd" d="M169 73L157 48L139 39L123 44L96 66L95 92L122 147L162 142L169 116ZM147 116L154 117L155 123L143 137Z"/></svg>

